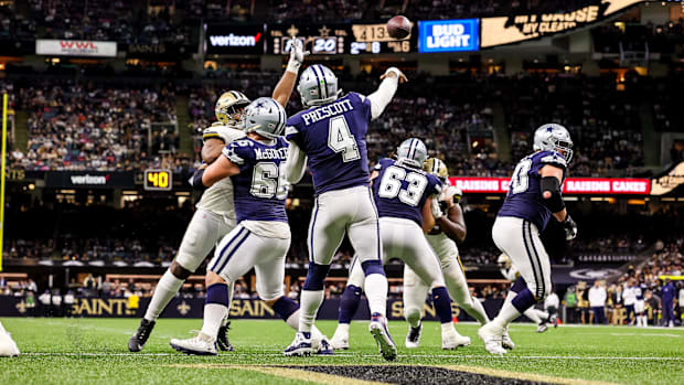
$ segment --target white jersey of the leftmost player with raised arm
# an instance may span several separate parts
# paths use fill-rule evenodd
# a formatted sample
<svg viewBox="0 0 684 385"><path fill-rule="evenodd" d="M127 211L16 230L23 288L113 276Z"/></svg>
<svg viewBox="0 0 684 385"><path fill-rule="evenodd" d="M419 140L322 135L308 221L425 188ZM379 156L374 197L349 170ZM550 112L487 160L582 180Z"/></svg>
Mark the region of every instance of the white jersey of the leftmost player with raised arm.
<svg viewBox="0 0 684 385"><path fill-rule="evenodd" d="M245 132L225 125L212 125L202 133L202 140L221 139L227 146L237 139L245 137ZM229 178L224 178L206 189L202 199L197 202L197 208L206 210L212 213L226 216L235 221L235 203L233 202L233 182Z"/></svg>

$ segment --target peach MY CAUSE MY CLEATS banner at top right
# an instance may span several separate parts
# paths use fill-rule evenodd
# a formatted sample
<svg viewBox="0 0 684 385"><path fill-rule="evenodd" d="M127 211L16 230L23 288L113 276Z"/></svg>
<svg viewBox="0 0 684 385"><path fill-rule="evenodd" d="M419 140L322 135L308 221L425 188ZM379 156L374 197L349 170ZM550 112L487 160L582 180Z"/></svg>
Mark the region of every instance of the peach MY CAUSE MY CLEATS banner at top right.
<svg viewBox="0 0 684 385"><path fill-rule="evenodd" d="M558 13L523 13L482 18L481 47L517 43L588 25L643 0L594 0L586 6Z"/></svg>

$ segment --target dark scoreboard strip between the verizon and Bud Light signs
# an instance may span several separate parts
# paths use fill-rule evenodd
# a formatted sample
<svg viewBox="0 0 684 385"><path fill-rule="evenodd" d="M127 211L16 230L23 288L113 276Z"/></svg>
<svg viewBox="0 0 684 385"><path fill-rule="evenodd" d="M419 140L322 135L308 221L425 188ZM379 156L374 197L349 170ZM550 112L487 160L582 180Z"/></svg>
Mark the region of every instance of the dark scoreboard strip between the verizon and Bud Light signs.
<svg viewBox="0 0 684 385"><path fill-rule="evenodd" d="M417 47L415 33L395 40L386 24L269 24L267 36L267 52L274 55L289 53L293 39L312 55L408 53Z"/></svg>

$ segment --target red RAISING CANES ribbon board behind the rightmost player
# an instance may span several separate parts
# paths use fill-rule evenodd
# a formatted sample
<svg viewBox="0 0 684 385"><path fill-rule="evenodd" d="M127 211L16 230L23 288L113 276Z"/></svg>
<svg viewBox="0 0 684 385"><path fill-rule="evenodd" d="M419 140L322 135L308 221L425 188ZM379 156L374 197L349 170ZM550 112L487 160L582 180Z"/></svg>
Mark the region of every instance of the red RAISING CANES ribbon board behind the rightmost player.
<svg viewBox="0 0 684 385"><path fill-rule="evenodd" d="M507 193L511 182L507 178L449 178L449 182L464 193ZM565 194L630 194L649 195L649 179L628 178L568 178L563 185Z"/></svg>

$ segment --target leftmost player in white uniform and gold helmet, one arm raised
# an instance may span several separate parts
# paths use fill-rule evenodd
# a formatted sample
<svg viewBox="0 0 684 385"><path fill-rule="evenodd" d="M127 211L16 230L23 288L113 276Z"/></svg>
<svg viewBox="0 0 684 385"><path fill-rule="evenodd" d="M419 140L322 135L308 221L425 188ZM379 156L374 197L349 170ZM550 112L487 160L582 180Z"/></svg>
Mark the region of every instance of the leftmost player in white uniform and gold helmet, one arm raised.
<svg viewBox="0 0 684 385"><path fill-rule="evenodd" d="M272 94L272 98L281 106L287 105L292 94L304 55L300 42L292 44L287 69ZM204 140L202 160L204 162L212 163L221 156L226 145L245 137L246 133L239 128L238 124L243 109L248 104L249 99L239 92L229 90L221 95L216 101L218 124L205 129L202 136ZM181 289L185 279L196 270L212 248L235 228L235 205L231 179L223 179L206 189L196 207L197 210L188 225L175 259L157 284L150 304L140 321L140 327L128 341L128 350L131 352L142 350L154 328L157 318ZM228 286L227 290L228 299L232 301L233 285ZM224 321L218 330L216 342L221 350L232 351L233 346L226 334L227 329L228 325Z"/></svg>

